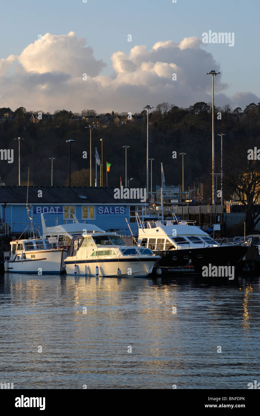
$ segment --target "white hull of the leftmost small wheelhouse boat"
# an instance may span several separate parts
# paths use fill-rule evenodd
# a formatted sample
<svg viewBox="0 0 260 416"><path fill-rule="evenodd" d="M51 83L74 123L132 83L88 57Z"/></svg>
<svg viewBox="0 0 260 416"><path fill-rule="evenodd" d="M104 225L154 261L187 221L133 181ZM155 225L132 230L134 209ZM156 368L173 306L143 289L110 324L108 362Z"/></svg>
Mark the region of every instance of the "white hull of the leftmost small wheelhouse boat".
<svg viewBox="0 0 260 416"><path fill-rule="evenodd" d="M34 273L39 275L64 273L64 260L68 250L27 251L22 260L8 260L10 273ZM34 256L34 257L32 257Z"/></svg>

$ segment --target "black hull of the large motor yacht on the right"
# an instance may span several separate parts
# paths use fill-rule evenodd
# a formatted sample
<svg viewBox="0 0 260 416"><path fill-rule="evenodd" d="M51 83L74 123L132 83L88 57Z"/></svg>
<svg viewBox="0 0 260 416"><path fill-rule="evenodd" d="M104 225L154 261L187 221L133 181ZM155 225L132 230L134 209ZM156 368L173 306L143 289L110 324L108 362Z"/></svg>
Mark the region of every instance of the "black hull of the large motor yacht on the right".
<svg viewBox="0 0 260 416"><path fill-rule="evenodd" d="M159 267L162 271L182 271L201 273L203 266L209 264L226 266L228 263L236 267L245 256L248 246L233 245L207 248L192 248L157 252L161 256ZM190 267L193 266L193 267Z"/></svg>

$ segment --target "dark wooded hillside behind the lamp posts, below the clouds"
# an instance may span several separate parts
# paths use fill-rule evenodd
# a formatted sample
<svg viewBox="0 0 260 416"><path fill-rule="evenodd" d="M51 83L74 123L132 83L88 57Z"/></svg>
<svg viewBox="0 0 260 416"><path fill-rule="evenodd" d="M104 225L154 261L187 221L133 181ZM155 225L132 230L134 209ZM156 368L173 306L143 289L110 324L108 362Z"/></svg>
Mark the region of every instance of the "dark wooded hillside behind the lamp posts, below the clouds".
<svg viewBox="0 0 260 416"><path fill-rule="evenodd" d="M0 117L10 112L10 108L0 108ZM89 110L83 110L82 116L88 116ZM94 110L91 110L94 111ZM96 113L96 112L95 112ZM37 114L37 112L36 112ZM108 126L92 130L92 184L95 178L95 147L101 157L101 141L103 138L103 185L106 185L105 161L111 163L108 173L108 186L119 186L120 176L125 183L125 149L128 149L128 178L134 177L131 186L144 187L146 184L146 115L142 122L128 121L124 125L113 121L118 113L106 113L110 120ZM145 114L143 112L143 114ZM220 172L220 137L223 137L223 171L238 163L237 150L247 154L250 146L257 146L260 135L260 103L251 103L244 111L230 106L215 108L215 152L216 172ZM73 113L57 110L54 120L42 120L33 124L30 122L32 112L20 107L14 111L15 121L2 119L0 124L1 149L14 149L14 162L1 160L0 176L7 185L18 183L18 136L25 139L21 142L21 178L27 183L27 171L30 167L30 183L49 186L51 183L51 161L54 160L54 185L68 185L69 174L69 145L66 140L73 139L71 145L71 185L89 185L89 129L85 119L69 121ZM75 113L74 113L75 115ZM79 114L78 114L79 115ZM126 113L121 113L122 119L127 119ZM195 178L202 178L204 183L204 202L209 203L211 197L211 105L198 102L189 108L162 103L149 115L150 149L149 157L153 161L153 190L161 183L161 165L164 163L166 185L182 183L182 156L184 156L184 187L193 188ZM83 158L87 151L87 159ZM172 158L172 152L177 152L177 159ZM150 162L149 162L150 163ZM150 166L150 165L149 165ZM196 181L196 186L198 181ZM99 167L98 167L99 185ZM150 186L150 174L149 174ZM220 187L218 187L220 189ZM233 190L230 184L225 188L224 199L230 199Z"/></svg>

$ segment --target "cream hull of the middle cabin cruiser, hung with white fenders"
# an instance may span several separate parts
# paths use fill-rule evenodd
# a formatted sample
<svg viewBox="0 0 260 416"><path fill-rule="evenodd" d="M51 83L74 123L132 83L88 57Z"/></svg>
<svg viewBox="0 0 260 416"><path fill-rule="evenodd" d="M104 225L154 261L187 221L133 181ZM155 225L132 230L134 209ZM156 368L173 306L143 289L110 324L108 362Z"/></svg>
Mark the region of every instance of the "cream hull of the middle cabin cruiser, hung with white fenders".
<svg viewBox="0 0 260 416"><path fill-rule="evenodd" d="M138 260L118 260L104 259L104 260L65 260L67 275L82 275L85 276L85 266L87 265L87 275L97 276L96 266L98 265L98 276L112 277L118 276L118 268L121 271L120 277L146 277L152 272L153 266L158 261L158 257L151 260L138 259ZM77 271L74 272L74 266L77 265Z"/></svg>

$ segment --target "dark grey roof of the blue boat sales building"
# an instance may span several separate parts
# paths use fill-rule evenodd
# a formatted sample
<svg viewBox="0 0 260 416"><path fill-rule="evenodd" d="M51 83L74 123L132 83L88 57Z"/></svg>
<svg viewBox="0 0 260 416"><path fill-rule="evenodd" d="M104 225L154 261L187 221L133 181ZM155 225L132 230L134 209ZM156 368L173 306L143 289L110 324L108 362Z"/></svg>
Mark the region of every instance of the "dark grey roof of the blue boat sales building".
<svg viewBox="0 0 260 416"><path fill-rule="evenodd" d="M29 186L28 204L142 204L140 199L115 199L115 188L91 186ZM38 197L38 191L42 197ZM84 196L86 198L81 198ZM27 186L0 186L0 203L26 203Z"/></svg>

